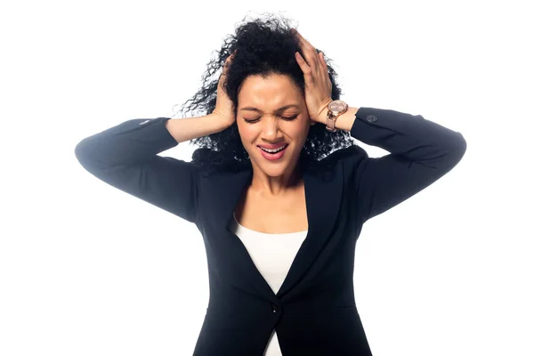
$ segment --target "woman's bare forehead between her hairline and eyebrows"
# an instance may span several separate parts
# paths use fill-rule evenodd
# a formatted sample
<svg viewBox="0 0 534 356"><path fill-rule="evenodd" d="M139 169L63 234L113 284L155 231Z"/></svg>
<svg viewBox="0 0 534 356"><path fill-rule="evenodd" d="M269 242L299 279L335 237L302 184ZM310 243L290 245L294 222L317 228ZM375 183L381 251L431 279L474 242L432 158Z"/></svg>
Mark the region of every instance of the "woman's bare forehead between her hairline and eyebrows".
<svg viewBox="0 0 534 356"><path fill-rule="evenodd" d="M272 74L269 77L248 76L241 85L238 100L241 104L276 105L285 101L299 101L299 87L285 75Z"/></svg>

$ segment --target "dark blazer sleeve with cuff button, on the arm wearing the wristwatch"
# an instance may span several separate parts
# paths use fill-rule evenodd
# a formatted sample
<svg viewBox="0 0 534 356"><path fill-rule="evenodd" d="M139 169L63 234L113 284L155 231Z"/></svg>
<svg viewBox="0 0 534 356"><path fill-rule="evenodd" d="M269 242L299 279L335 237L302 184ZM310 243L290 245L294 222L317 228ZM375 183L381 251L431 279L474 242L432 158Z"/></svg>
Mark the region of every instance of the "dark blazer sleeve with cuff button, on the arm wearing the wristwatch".
<svg viewBox="0 0 534 356"><path fill-rule="evenodd" d="M436 182L457 165L467 147L462 134L391 109L358 109L350 133L390 152L369 158L358 146L359 154L352 159L363 222Z"/></svg>

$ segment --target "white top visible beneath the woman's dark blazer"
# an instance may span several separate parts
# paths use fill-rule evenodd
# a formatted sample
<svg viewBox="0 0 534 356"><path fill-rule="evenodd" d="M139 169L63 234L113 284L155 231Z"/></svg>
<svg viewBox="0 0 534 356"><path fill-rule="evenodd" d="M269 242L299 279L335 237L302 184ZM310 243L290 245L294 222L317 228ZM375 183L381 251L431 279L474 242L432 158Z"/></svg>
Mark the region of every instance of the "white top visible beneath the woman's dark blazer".
<svg viewBox="0 0 534 356"><path fill-rule="evenodd" d="M274 294L278 293L298 249L303 244L303 240L306 239L308 231L283 234L258 232L247 229L238 223L235 214L233 214L233 217L234 223L231 230L247 247L248 255L250 255L256 268L262 274L263 279L271 286ZM282 356L276 329L272 331L263 356Z"/></svg>

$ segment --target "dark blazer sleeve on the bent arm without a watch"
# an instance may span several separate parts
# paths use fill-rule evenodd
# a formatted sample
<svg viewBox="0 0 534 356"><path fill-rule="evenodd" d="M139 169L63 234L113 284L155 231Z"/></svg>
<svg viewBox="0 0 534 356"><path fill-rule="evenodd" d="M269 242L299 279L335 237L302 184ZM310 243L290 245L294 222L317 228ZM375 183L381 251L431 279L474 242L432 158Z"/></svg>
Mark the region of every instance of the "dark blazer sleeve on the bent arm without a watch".
<svg viewBox="0 0 534 356"><path fill-rule="evenodd" d="M194 222L198 173L190 162L158 156L178 145L169 117L131 119L77 143L75 155L101 181Z"/></svg>

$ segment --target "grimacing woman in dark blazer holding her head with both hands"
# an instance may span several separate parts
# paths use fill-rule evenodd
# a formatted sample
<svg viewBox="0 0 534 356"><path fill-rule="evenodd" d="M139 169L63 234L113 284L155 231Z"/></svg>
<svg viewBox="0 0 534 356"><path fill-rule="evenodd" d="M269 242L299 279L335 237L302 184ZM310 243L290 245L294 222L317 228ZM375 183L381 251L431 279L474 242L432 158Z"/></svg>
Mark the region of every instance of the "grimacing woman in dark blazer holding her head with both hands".
<svg viewBox="0 0 534 356"><path fill-rule="evenodd" d="M361 227L456 166L462 134L345 105L324 54L283 21L237 28L208 74L222 67L189 106L205 116L125 121L77 159L198 226L210 298L194 355L371 355L352 285ZM158 156L188 140L191 162Z"/></svg>

